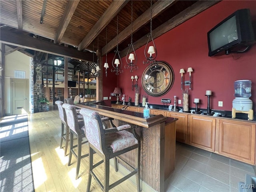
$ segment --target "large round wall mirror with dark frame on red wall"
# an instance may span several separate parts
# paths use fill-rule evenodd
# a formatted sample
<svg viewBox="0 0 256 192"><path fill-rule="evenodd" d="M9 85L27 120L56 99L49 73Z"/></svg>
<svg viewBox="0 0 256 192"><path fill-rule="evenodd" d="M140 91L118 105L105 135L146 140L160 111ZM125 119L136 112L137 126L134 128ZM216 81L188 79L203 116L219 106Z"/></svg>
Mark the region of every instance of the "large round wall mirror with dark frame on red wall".
<svg viewBox="0 0 256 192"><path fill-rule="evenodd" d="M162 96L170 90L174 82L172 67L163 61L148 66L142 74L142 87L151 96Z"/></svg>

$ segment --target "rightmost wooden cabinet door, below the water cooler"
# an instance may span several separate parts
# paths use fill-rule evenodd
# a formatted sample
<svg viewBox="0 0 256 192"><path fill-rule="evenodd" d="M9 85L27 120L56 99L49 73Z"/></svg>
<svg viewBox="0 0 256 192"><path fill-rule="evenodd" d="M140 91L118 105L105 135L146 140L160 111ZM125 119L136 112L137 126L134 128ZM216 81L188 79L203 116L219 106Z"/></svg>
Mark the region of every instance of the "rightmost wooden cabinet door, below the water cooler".
<svg viewBox="0 0 256 192"><path fill-rule="evenodd" d="M220 120L219 153L255 164L255 124Z"/></svg>

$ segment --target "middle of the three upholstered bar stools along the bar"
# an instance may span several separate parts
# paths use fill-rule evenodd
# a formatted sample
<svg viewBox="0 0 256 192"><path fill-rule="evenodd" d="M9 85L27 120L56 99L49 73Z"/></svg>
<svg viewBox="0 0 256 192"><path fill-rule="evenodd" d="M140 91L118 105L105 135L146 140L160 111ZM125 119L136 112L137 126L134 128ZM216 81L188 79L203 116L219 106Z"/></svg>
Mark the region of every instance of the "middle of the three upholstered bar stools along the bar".
<svg viewBox="0 0 256 192"><path fill-rule="evenodd" d="M72 105L63 104L62 107L65 109L67 125L70 129L70 151L68 166L70 166L72 154L74 154L77 159L76 179L78 179L81 159L88 156L88 154L82 155L82 145L88 143L88 140L85 137L84 121L78 121L78 115ZM74 135L77 137L77 145L74 145ZM74 148L76 147L78 148L77 153L74 151Z"/></svg>

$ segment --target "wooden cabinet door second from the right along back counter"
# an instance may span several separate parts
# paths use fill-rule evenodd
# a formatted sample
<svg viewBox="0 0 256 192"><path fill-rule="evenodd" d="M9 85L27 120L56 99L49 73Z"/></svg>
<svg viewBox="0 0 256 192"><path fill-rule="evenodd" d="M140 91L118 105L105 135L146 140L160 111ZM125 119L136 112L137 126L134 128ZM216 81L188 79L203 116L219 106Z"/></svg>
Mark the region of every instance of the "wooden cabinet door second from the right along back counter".
<svg viewBox="0 0 256 192"><path fill-rule="evenodd" d="M190 115L189 125L189 144L214 151L216 120Z"/></svg>

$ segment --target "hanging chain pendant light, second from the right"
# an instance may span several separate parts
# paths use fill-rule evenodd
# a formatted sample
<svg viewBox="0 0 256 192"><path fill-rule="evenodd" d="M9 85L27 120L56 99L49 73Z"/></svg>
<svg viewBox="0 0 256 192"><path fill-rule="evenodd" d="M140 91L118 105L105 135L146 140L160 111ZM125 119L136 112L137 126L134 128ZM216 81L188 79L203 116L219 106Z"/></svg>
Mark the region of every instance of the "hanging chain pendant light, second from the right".
<svg viewBox="0 0 256 192"><path fill-rule="evenodd" d="M132 18L132 16L133 16L132 3L131 3L131 12L132 12L131 13L131 28L132 28L132 19L133 19ZM131 32L131 44L128 44L128 46L129 46L129 49L128 49L128 52L125 57L127 64L124 66L124 68L125 69L130 68L130 72L132 73L133 70L138 70L138 66L136 65L138 58L137 58L136 52L135 52L133 44L132 44L132 32ZM128 54L129 54L129 56L128 56Z"/></svg>

